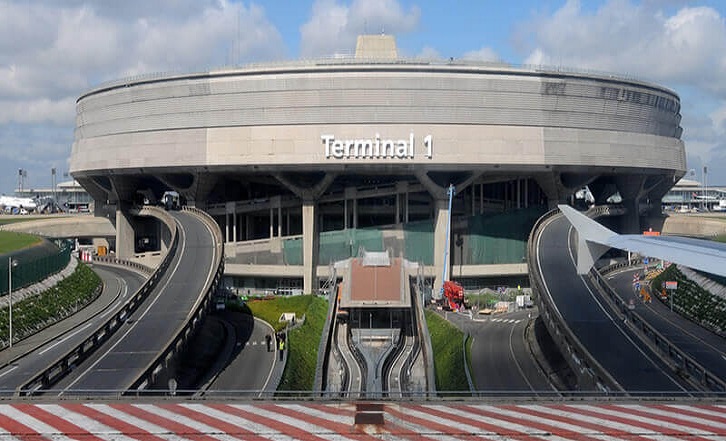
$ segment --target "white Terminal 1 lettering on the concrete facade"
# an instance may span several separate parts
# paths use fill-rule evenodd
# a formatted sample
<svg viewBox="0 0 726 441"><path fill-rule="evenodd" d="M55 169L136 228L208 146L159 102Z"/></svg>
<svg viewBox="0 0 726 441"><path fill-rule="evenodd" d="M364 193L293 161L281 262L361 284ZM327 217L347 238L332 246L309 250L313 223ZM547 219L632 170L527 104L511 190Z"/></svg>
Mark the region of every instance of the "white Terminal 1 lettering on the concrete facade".
<svg viewBox="0 0 726 441"><path fill-rule="evenodd" d="M421 140L423 151L417 152L413 132L408 139L387 139L376 136L369 139L336 139L335 135L321 135L325 157L332 159L413 159L419 153L431 159L434 140L426 135Z"/></svg>

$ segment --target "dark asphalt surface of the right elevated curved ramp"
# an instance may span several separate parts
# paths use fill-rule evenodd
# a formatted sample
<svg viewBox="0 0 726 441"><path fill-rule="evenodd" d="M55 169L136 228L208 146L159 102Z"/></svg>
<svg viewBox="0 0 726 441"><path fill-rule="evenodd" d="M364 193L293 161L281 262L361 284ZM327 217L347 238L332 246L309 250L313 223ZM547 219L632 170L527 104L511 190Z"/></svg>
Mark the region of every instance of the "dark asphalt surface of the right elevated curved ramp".
<svg viewBox="0 0 726 441"><path fill-rule="evenodd" d="M576 272L573 227L562 215L550 218L536 244L537 265L560 314L592 356L629 392L685 392L658 358L630 335L604 300Z"/></svg>

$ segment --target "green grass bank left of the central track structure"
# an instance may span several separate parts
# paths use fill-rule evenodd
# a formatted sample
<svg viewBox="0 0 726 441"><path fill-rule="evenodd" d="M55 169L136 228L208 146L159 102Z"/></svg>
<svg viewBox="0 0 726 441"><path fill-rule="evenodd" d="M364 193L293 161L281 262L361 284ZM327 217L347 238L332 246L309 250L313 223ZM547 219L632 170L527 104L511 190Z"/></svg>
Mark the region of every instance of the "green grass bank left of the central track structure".
<svg viewBox="0 0 726 441"><path fill-rule="evenodd" d="M283 312L294 312L299 318L305 316L305 323L288 333L287 364L277 390L313 390L318 347L328 313L328 302L320 297L301 295L251 300L247 305L255 317L265 320L275 331L281 331L286 326L286 323L279 322Z"/></svg>

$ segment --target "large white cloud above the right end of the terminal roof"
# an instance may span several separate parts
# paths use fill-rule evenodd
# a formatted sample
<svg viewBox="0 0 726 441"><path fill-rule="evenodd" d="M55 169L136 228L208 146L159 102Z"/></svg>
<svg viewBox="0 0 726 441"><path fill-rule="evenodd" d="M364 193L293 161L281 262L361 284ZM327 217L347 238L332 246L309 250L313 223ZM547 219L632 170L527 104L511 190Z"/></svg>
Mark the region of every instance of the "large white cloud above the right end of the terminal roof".
<svg viewBox="0 0 726 441"><path fill-rule="evenodd" d="M609 0L594 13L569 0L520 27L536 42L527 64L550 64L689 83L726 96L726 23L709 7L673 15L658 2Z"/></svg>

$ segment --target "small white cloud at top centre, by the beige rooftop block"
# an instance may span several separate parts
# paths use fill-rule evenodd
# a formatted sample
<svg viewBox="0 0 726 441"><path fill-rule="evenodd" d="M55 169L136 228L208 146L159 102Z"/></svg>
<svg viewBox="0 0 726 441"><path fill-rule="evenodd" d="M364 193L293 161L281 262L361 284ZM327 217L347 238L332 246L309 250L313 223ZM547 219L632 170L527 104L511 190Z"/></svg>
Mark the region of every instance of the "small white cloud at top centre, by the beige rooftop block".
<svg viewBox="0 0 726 441"><path fill-rule="evenodd" d="M404 11L396 0L317 0L312 17L300 27L303 58L352 53L358 35L385 32L401 35L418 25L421 12Z"/></svg>

